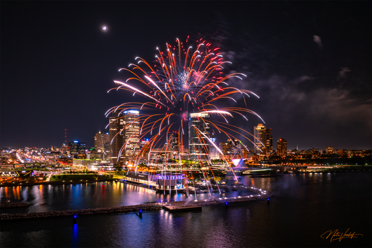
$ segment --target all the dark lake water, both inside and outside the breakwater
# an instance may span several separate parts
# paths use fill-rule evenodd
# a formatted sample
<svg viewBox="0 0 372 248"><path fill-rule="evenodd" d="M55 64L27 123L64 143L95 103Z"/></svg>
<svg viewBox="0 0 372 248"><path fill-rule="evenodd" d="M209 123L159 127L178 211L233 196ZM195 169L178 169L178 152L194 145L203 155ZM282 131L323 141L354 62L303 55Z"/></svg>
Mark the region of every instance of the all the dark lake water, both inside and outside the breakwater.
<svg viewBox="0 0 372 248"><path fill-rule="evenodd" d="M204 206L201 212L160 210L145 212L142 219L135 214L80 216L76 225L70 217L6 221L0 226L0 247L370 247L371 176L313 173L242 177L244 184L274 193L269 205L251 201L228 207ZM40 194L38 199L47 203L41 206L50 209L58 204L66 208L74 203L98 207L184 197L115 182L36 189L21 187L21 200L35 201ZM7 194L15 198L13 192L13 187L0 188L1 200ZM38 206L33 206L34 210ZM332 228L350 228L364 236L337 244L322 240L320 235Z"/></svg>

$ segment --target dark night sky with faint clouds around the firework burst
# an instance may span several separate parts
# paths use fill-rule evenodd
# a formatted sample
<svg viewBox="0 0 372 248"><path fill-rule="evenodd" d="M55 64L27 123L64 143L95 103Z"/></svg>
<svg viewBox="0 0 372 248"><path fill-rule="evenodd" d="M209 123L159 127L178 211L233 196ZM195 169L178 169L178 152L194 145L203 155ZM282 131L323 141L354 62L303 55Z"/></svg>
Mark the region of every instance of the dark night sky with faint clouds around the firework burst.
<svg viewBox="0 0 372 248"><path fill-rule="evenodd" d="M288 149L372 149L370 1L1 1L0 147L94 146L118 69L175 39L204 38L232 61L229 83ZM107 26L103 31L102 27ZM137 99L138 100L138 99ZM241 101L242 99L237 99ZM253 132L248 116L237 126ZM218 140L224 141L224 140ZM248 145L253 148L253 145ZM275 149L275 145L274 145Z"/></svg>

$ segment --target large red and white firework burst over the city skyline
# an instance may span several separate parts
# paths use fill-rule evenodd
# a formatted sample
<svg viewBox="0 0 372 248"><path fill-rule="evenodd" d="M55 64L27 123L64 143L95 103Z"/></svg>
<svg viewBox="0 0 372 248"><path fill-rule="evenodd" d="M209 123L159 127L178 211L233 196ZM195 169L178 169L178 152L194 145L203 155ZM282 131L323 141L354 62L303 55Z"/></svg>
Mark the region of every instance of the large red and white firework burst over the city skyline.
<svg viewBox="0 0 372 248"><path fill-rule="evenodd" d="M179 147L181 147L184 136L187 135L186 127L191 113L204 114L198 115L198 119L204 123L204 126L209 126L213 133L224 133L230 139L239 135L253 143L248 138L252 136L251 133L229 124L228 118L242 117L248 120L246 114L258 115L247 108L224 107L226 101L236 103L235 94L244 97L256 96L251 91L237 89L228 84L231 78L242 80L246 75L226 74L227 70L224 66L231 62L224 60L220 48L213 48L207 41L200 39L194 47L186 45L187 40L185 44L178 38L176 41L174 46L167 43L164 52L156 48L158 54L153 64L136 57L137 64L129 64L128 68L119 70L128 71L131 77L125 82L114 80L118 86L109 90L110 92L113 89L124 89L133 92L133 96L137 94L147 100L122 103L106 112L107 116L112 112L119 112L120 116L120 113L126 110L141 111L139 138L147 136L151 138L149 143L142 147L134 163L138 163L144 152L151 152L163 144L164 140L169 143L168 133L172 131L177 131ZM209 117L213 116L223 119L223 122L211 122ZM194 129L201 143L206 144L211 141L205 136L203 130L193 125L190 128ZM202 147L207 149L207 145ZM123 149L125 145L121 147L121 150ZM222 154L218 147L216 149Z"/></svg>

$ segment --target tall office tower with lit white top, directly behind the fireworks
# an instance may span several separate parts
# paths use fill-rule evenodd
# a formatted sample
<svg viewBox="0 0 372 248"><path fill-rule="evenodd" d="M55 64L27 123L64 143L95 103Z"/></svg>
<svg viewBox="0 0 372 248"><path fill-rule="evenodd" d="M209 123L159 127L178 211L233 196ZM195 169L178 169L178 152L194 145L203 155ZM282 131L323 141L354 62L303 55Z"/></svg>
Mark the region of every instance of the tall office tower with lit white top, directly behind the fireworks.
<svg viewBox="0 0 372 248"><path fill-rule="evenodd" d="M188 152L191 159L208 160L209 114L191 113L188 119Z"/></svg>

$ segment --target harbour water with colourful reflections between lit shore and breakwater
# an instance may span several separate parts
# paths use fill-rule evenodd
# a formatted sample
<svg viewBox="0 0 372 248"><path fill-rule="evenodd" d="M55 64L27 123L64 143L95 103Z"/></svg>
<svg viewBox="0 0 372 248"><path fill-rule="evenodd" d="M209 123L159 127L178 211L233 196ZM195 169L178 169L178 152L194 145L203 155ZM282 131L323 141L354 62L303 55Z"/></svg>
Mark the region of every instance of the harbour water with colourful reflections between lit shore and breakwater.
<svg viewBox="0 0 372 248"><path fill-rule="evenodd" d="M197 194L196 199L246 196L248 192L227 191L223 194L210 192ZM95 207L119 207L143 203L168 202L176 200L195 200L190 196L169 191L156 192L149 188L138 187L121 182L95 182L82 184L34 185L23 187L0 187L0 200L25 201L31 206L22 209L6 209L3 212L45 212L74 210Z"/></svg>

